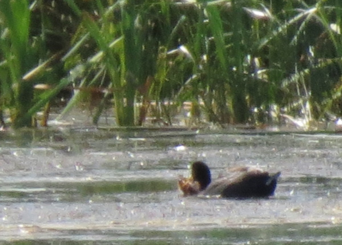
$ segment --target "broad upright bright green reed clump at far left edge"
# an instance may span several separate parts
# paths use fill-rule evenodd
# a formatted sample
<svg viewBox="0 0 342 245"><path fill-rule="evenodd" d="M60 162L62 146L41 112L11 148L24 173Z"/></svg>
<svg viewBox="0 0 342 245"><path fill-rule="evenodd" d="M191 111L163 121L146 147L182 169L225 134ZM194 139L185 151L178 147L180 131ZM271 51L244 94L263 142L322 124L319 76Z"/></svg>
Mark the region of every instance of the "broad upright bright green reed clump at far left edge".
<svg viewBox="0 0 342 245"><path fill-rule="evenodd" d="M13 108L14 127L27 126L31 119L27 114L33 99L33 87L22 76L32 66L32 49L29 43L30 10L28 2L1 1L1 102Z"/></svg>

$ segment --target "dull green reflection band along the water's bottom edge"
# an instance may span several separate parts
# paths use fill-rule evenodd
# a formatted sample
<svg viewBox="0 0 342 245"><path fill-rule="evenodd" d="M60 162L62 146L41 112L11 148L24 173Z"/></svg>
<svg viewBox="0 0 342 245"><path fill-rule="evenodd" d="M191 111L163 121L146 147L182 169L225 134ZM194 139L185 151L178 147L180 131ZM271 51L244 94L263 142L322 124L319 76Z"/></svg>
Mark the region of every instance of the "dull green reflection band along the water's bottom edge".
<svg viewBox="0 0 342 245"><path fill-rule="evenodd" d="M29 228L26 228L29 229ZM31 230L39 229L30 227ZM39 231L37 240L21 240L11 244L341 244L341 227L327 227L325 224L276 224L257 227L213 228L194 231L113 231L79 230L55 233L50 236Z"/></svg>

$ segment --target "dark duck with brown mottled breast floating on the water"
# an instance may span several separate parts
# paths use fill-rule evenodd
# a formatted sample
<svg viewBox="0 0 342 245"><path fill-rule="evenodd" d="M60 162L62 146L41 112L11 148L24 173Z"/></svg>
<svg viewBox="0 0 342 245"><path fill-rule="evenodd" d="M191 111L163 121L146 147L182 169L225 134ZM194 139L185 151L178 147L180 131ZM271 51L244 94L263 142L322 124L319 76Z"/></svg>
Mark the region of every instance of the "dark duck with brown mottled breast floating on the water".
<svg viewBox="0 0 342 245"><path fill-rule="evenodd" d="M274 195L280 172L269 174L256 167L234 167L211 180L208 165L197 161L191 166L191 176L180 176L179 189L184 196L219 195L222 198L268 198Z"/></svg>

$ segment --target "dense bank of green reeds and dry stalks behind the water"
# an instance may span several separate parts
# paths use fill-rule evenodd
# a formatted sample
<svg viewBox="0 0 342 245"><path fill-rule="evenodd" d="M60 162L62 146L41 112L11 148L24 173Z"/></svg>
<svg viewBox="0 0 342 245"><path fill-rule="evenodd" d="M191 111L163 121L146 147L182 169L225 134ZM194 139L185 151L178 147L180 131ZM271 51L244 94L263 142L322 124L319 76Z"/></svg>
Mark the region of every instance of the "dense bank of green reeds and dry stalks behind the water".
<svg viewBox="0 0 342 245"><path fill-rule="evenodd" d="M46 125L50 103L68 91L61 117L87 94L94 124L108 101L121 126L147 115L170 125L185 101L192 122L340 116L341 9L323 0L3 1L1 112L22 127L44 110Z"/></svg>

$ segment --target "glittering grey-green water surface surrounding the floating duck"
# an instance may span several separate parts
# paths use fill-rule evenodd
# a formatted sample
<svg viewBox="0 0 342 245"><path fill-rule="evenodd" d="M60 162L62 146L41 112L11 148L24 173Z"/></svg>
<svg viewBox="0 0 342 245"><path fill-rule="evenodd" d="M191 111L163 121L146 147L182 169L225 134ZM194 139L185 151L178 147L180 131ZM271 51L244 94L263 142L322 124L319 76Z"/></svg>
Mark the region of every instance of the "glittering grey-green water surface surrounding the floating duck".
<svg viewBox="0 0 342 245"><path fill-rule="evenodd" d="M0 133L0 244L342 244L342 135ZM281 171L276 195L184 198L196 160Z"/></svg>

